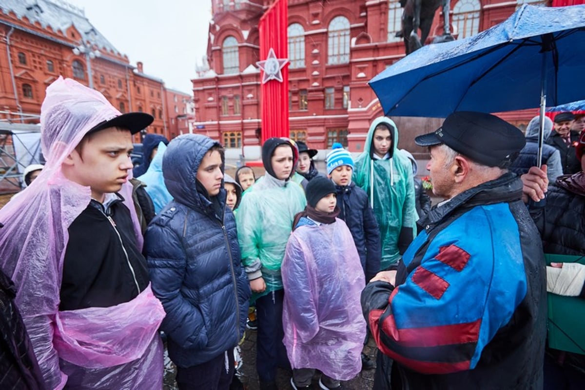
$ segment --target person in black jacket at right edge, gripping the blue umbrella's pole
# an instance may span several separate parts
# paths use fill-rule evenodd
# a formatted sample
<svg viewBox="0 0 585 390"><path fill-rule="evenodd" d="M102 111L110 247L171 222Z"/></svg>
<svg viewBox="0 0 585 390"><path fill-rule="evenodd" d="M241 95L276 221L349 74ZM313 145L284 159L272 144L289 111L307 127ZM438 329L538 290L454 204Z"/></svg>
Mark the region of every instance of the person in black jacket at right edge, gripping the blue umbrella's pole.
<svg viewBox="0 0 585 390"><path fill-rule="evenodd" d="M531 204L530 214L542 238L545 253L585 256L585 134L576 146L581 171L560 176L548 186L544 207ZM522 176L525 200L538 201L534 190L546 189L546 171L532 167ZM532 190L532 191L531 191ZM585 265L558 263L546 267L547 290L564 296L585 298ZM585 355L546 348L544 388L578 389L585 383Z"/></svg>

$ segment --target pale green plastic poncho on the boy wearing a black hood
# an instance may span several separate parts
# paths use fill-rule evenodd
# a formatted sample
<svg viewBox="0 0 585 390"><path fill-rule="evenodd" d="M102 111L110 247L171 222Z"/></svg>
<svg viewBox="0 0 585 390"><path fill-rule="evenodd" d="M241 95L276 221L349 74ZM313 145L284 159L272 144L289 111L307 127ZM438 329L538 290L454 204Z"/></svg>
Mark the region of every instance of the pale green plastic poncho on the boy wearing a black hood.
<svg viewBox="0 0 585 390"><path fill-rule="evenodd" d="M260 296L283 288L280 264L292 231L295 214L307 205L301 186L264 175L242 197L236 214L242 262L250 276L264 278L266 290Z"/></svg>

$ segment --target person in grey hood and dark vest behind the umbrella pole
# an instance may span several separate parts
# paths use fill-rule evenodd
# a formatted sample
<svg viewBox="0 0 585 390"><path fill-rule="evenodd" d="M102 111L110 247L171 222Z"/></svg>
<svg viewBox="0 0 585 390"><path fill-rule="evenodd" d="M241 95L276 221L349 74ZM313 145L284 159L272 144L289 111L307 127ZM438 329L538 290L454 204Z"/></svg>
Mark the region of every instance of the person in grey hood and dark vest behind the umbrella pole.
<svg viewBox="0 0 585 390"><path fill-rule="evenodd" d="M518 176L528 173L528 170L532 166L537 166L538 162L536 158L538 156L538 133L540 131L541 120L538 115L531 119L526 126L526 145L522 150L518 158L512 162L510 170L516 173ZM544 141L548 141L552 132L552 121L550 118L545 117L544 125ZM549 182L554 182L557 177L563 175L563 166L560 162L560 152L555 147L548 145L547 143L542 145L542 160L541 165L546 165L548 170Z"/></svg>

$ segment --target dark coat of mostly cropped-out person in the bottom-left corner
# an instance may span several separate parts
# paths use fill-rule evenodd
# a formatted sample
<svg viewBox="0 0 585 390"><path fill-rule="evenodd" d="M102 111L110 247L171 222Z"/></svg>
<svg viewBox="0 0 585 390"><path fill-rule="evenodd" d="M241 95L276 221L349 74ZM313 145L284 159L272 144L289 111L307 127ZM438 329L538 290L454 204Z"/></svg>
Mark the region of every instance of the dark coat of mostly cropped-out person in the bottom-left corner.
<svg viewBox="0 0 585 390"><path fill-rule="evenodd" d="M0 269L0 389L41 390L43 375L15 297L14 283Z"/></svg>

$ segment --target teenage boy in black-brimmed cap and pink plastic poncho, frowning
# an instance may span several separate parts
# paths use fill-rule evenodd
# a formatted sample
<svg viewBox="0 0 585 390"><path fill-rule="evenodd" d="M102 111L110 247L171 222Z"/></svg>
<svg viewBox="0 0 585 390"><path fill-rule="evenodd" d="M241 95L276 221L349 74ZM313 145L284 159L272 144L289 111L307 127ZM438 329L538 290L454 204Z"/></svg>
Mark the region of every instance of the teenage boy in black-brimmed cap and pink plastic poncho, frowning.
<svg viewBox="0 0 585 390"><path fill-rule="evenodd" d="M153 121L121 114L59 78L41 107L47 163L0 210L0 266L46 388L161 388L164 317L153 296L132 204L132 134ZM122 196L121 193L124 195Z"/></svg>

